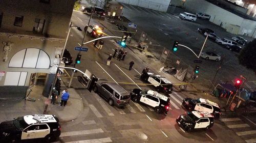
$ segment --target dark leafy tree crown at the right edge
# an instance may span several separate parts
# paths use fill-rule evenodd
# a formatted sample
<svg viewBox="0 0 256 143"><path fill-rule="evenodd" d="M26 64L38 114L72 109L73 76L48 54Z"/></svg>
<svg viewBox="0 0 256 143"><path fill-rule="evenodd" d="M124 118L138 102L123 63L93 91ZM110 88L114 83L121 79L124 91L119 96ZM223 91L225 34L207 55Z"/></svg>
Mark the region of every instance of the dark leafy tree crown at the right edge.
<svg viewBox="0 0 256 143"><path fill-rule="evenodd" d="M239 63L254 71L256 75L256 39L249 42L238 56Z"/></svg>

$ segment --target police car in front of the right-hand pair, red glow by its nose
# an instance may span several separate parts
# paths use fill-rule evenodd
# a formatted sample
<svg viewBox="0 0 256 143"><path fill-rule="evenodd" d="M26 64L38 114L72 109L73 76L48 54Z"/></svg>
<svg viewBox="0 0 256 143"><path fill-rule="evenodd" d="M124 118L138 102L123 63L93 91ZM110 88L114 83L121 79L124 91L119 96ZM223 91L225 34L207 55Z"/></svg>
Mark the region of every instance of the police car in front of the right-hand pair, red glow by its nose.
<svg viewBox="0 0 256 143"><path fill-rule="evenodd" d="M191 111L180 115L176 122L186 131L193 129L209 129L214 125L214 116L204 111Z"/></svg>

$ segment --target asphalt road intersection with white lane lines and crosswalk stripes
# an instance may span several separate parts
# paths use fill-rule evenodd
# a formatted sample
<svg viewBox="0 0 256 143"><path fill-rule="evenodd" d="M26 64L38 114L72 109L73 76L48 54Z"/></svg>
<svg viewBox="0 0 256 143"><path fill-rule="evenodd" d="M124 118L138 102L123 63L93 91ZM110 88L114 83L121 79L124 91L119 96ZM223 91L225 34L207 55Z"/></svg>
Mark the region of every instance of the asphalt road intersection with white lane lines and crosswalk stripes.
<svg viewBox="0 0 256 143"><path fill-rule="evenodd" d="M82 29L88 20L88 15L75 11L71 18L71 22L74 25L81 26ZM91 20L91 24L99 23L102 23L102 21ZM109 31L105 32L111 35ZM81 43L83 34L75 28L71 30L67 48L74 59L78 53L74 50L74 47ZM92 38L87 36L86 41L89 40L92 40ZM102 50L93 47L92 43L84 46L88 47L89 50L88 52L82 52L81 64L78 64L76 68L82 71L87 69L99 79L142 83L139 76L146 64L129 48L125 49L128 54L124 61L113 59L110 66L106 66L106 59L110 53L114 52L113 49L116 47L111 39L104 40ZM135 65L134 69L129 71L131 60L134 60ZM151 70L156 72L154 69ZM70 71L68 73L71 74ZM80 74L76 73L74 77L78 75ZM121 84L121 86L128 92L138 87L152 89L152 87L136 84ZM77 93L81 96L84 109L77 120L61 124L62 134L56 142L245 142L246 139L242 139L219 120L208 131L195 130L188 133L181 129L175 122L176 118L185 112L181 107L181 101L185 97L194 98L194 95L185 95L178 92L170 94L172 110L165 116L157 114L152 108L132 101L130 105L123 108L110 106L98 94L90 93L84 89L76 79L73 80L72 87L75 87Z"/></svg>

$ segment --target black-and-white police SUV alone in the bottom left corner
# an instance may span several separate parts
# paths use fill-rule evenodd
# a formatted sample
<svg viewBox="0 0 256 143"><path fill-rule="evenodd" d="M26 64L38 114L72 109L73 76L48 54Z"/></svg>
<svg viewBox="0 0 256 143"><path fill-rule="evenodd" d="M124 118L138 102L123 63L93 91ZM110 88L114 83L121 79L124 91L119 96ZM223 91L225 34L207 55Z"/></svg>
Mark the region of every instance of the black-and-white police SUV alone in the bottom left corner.
<svg viewBox="0 0 256 143"><path fill-rule="evenodd" d="M0 124L0 142L45 138L47 142L60 135L59 120L54 115L27 115Z"/></svg>

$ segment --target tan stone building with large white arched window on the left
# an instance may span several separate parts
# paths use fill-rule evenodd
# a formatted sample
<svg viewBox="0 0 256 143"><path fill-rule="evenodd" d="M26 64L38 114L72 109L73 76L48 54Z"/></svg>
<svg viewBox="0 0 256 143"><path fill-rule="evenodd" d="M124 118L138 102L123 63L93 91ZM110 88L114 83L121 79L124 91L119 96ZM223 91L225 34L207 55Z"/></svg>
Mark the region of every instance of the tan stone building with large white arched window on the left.
<svg viewBox="0 0 256 143"><path fill-rule="evenodd" d="M75 1L0 1L0 98L24 97L42 77L49 93ZM34 82L33 82L34 81ZM39 80L38 80L39 82Z"/></svg>

